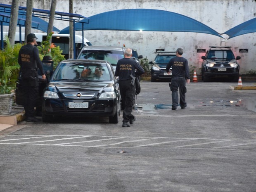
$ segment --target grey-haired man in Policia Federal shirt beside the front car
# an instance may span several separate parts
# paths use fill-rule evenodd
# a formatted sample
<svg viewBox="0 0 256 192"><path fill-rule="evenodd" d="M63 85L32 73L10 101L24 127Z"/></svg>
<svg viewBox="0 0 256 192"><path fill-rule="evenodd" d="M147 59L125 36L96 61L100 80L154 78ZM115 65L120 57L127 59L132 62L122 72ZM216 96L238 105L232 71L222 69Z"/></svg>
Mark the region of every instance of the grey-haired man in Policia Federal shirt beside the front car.
<svg viewBox="0 0 256 192"><path fill-rule="evenodd" d="M119 77L122 102L125 102L122 127L130 127L128 122L133 124L136 120L135 116L132 114L135 102L135 76L140 76L145 73L140 64L136 60L130 58L132 52L133 51L130 48L126 48L124 58L117 62L115 72L115 75Z"/></svg>

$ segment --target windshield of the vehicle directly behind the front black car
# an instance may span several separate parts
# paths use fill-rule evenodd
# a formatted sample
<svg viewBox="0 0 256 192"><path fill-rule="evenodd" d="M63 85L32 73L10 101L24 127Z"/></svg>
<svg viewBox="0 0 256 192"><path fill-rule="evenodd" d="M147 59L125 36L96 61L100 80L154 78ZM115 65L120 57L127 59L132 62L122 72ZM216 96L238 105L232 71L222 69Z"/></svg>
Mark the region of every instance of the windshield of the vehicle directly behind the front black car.
<svg viewBox="0 0 256 192"><path fill-rule="evenodd" d="M105 60L116 65L118 60L122 59L123 57L123 51L83 50L78 59Z"/></svg>

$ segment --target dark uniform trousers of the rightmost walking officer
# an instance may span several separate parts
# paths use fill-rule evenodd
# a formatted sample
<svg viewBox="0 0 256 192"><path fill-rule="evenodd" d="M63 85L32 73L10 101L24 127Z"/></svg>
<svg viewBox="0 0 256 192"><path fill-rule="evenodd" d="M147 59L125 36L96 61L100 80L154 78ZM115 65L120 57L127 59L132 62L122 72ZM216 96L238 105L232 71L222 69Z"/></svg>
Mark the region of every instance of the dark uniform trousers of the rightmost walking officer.
<svg viewBox="0 0 256 192"><path fill-rule="evenodd" d="M187 92L186 88L186 79L185 77L173 77L171 79L172 85L172 100L173 100L173 108L177 108L179 104L178 97L178 89L180 91L180 107L187 107L187 103L185 101L185 93Z"/></svg>

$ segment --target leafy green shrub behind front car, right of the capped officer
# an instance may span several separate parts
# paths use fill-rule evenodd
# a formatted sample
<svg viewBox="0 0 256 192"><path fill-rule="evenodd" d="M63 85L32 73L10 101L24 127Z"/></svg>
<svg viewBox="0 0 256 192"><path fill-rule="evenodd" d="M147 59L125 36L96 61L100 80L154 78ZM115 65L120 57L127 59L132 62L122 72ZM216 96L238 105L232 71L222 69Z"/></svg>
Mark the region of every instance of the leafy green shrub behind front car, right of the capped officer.
<svg viewBox="0 0 256 192"><path fill-rule="evenodd" d="M59 46L55 46L50 43L50 38L52 37L53 32L51 32L47 37L46 40L41 42L41 45L38 46L40 59L42 60L45 55L50 55L52 57L53 68L55 69L56 66L65 59L64 55L62 55L62 50Z"/></svg>

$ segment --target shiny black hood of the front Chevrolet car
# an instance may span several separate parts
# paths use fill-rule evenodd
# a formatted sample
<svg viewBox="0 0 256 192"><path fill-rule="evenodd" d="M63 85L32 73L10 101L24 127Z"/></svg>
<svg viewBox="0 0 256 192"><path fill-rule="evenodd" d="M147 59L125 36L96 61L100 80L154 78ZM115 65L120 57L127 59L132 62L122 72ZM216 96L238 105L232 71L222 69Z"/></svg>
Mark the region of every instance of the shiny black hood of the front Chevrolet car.
<svg viewBox="0 0 256 192"><path fill-rule="evenodd" d="M74 81L52 81L48 85L48 89L59 92L108 92L113 91L113 82L74 82Z"/></svg>

